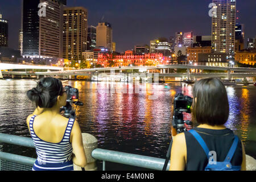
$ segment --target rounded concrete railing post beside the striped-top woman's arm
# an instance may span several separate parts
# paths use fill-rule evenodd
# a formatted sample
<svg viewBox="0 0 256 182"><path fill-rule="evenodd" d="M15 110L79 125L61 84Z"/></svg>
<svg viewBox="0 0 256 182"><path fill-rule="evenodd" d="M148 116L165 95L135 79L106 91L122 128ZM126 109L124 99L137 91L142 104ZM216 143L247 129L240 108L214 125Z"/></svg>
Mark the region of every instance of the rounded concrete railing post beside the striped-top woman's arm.
<svg viewBox="0 0 256 182"><path fill-rule="evenodd" d="M96 171L96 159L92 158L92 151L98 147L98 140L88 133L82 133L82 143L84 144L84 151L86 155L87 165L85 166L85 171ZM82 171L79 166L74 166L74 171Z"/></svg>

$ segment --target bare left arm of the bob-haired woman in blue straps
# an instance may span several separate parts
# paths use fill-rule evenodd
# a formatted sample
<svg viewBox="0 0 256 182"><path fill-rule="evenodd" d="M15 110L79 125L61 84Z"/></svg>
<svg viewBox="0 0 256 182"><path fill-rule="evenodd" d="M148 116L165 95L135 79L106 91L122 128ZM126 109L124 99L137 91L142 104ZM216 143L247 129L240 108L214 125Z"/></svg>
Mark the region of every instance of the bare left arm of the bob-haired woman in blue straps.
<svg viewBox="0 0 256 182"><path fill-rule="evenodd" d="M184 133L176 135L172 142L170 171L184 171L187 146Z"/></svg>

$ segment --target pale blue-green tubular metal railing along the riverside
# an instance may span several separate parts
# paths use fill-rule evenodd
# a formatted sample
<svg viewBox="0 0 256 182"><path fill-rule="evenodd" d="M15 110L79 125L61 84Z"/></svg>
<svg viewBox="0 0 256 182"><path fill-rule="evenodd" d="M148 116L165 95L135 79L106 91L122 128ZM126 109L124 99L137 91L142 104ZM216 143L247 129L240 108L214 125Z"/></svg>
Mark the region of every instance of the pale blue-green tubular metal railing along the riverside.
<svg viewBox="0 0 256 182"><path fill-rule="evenodd" d="M33 140L28 137L18 137L15 135L0 133L0 142L35 148ZM92 157L94 159L103 161L103 171L106 169L106 161L154 170L162 170L164 165L164 159L152 158L150 156L137 154L129 154L125 152L104 150L101 148L94 149L92 151ZM34 158L29 158L26 156L0 152L0 171L28 171L32 169L35 160L36 159ZM170 162L167 166L167 169L169 169L169 167Z"/></svg>

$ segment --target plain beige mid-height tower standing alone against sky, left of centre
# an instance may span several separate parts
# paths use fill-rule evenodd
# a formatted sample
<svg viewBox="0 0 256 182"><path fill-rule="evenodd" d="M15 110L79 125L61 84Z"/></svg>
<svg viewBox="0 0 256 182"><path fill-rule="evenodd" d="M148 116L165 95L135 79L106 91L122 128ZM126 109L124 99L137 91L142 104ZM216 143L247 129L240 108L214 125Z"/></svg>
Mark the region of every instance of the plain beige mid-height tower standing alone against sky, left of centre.
<svg viewBox="0 0 256 182"><path fill-rule="evenodd" d="M107 22L100 22L96 27L96 47L105 47L112 51L112 26Z"/></svg>

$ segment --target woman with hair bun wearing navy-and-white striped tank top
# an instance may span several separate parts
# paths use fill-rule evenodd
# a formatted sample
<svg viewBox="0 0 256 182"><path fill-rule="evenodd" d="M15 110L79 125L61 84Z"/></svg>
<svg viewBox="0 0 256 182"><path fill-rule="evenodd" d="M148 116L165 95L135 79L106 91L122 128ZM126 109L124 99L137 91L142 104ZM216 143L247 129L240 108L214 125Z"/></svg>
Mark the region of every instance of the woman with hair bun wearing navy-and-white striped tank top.
<svg viewBox="0 0 256 182"><path fill-rule="evenodd" d="M38 158L33 171L72 171L73 163L84 168L86 156L79 124L60 115L66 105L67 90L59 79L46 77L28 90L27 97L36 110L27 117L27 125Z"/></svg>

